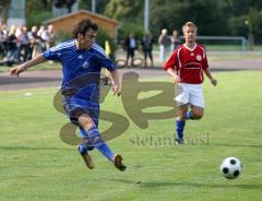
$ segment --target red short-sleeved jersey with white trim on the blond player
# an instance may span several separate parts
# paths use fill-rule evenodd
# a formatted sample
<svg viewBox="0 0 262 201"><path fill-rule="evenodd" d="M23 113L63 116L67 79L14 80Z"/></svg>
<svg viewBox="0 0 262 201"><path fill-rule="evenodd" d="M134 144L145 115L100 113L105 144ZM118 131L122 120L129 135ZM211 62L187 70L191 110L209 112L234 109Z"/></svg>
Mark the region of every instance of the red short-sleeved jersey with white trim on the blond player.
<svg viewBox="0 0 262 201"><path fill-rule="evenodd" d="M164 70L174 69L178 72L182 83L200 84L204 81L203 69L209 68L205 48L195 44L190 49L179 46L164 66Z"/></svg>

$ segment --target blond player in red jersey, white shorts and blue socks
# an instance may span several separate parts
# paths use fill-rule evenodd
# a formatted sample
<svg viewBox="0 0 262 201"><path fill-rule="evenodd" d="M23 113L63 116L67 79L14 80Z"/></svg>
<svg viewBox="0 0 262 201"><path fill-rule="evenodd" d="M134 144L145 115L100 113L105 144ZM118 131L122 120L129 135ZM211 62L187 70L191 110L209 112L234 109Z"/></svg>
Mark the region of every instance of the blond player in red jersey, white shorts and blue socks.
<svg viewBox="0 0 262 201"><path fill-rule="evenodd" d="M216 86L217 81L209 70L209 62L204 46L196 44L198 27L192 22L187 22L183 27L186 43L178 47L164 66L179 86L177 94L177 142L183 144L183 129L187 119L201 119L204 114L204 97L202 83L203 72Z"/></svg>

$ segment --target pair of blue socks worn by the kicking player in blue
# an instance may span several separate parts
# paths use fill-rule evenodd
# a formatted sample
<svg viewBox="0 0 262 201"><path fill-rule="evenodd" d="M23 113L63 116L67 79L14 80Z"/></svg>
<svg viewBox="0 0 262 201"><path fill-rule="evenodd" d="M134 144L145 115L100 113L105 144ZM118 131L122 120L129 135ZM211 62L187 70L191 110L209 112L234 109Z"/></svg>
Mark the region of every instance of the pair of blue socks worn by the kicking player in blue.
<svg viewBox="0 0 262 201"><path fill-rule="evenodd" d="M90 144L85 145L86 143L82 143L79 146L80 153L82 151L87 151L88 147L96 147L105 157L107 157L109 161L112 161L115 157L115 154L111 152L111 150L108 147L106 142L103 140L99 131L96 127L92 127L87 132L84 132L84 129L81 129L81 135L88 139ZM85 146L85 147L84 147Z"/></svg>

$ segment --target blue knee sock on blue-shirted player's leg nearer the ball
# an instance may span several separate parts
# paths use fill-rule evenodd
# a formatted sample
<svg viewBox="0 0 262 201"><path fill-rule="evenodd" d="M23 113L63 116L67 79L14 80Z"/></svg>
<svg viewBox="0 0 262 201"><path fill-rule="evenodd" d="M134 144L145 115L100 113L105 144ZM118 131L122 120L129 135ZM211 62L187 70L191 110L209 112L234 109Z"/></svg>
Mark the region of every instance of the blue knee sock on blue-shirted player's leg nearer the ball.
<svg viewBox="0 0 262 201"><path fill-rule="evenodd" d="M99 131L96 127L92 127L86 134L88 135L92 145L94 145L105 157L107 157L109 161L112 161L115 157L115 154L111 152L109 146L106 144L106 142L103 140Z"/></svg>

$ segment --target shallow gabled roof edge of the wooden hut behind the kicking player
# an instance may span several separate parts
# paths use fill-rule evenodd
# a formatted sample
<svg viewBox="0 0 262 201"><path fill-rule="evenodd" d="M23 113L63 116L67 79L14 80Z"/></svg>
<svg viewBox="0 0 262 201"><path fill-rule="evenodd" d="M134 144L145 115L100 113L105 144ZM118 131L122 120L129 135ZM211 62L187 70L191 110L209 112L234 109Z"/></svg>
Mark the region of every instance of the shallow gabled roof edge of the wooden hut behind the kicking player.
<svg viewBox="0 0 262 201"><path fill-rule="evenodd" d="M44 21L44 23L45 24L51 24L53 22L57 22L57 21L60 21L60 20L64 20L64 19L71 17L71 16L75 16L78 14L88 14L91 16L94 16L94 17L97 17L97 19L110 22L110 23L116 24L116 25L119 24L118 21L111 20L111 19L109 19L107 16L104 16L104 15L100 15L100 14L96 14L96 13L93 13L93 12L90 12L90 11L86 11L86 10L80 10L78 12L64 14L64 15L61 15L61 16L58 16L58 17L55 17L55 19L51 19L51 20L48 20L48 21Z"/></svg>

